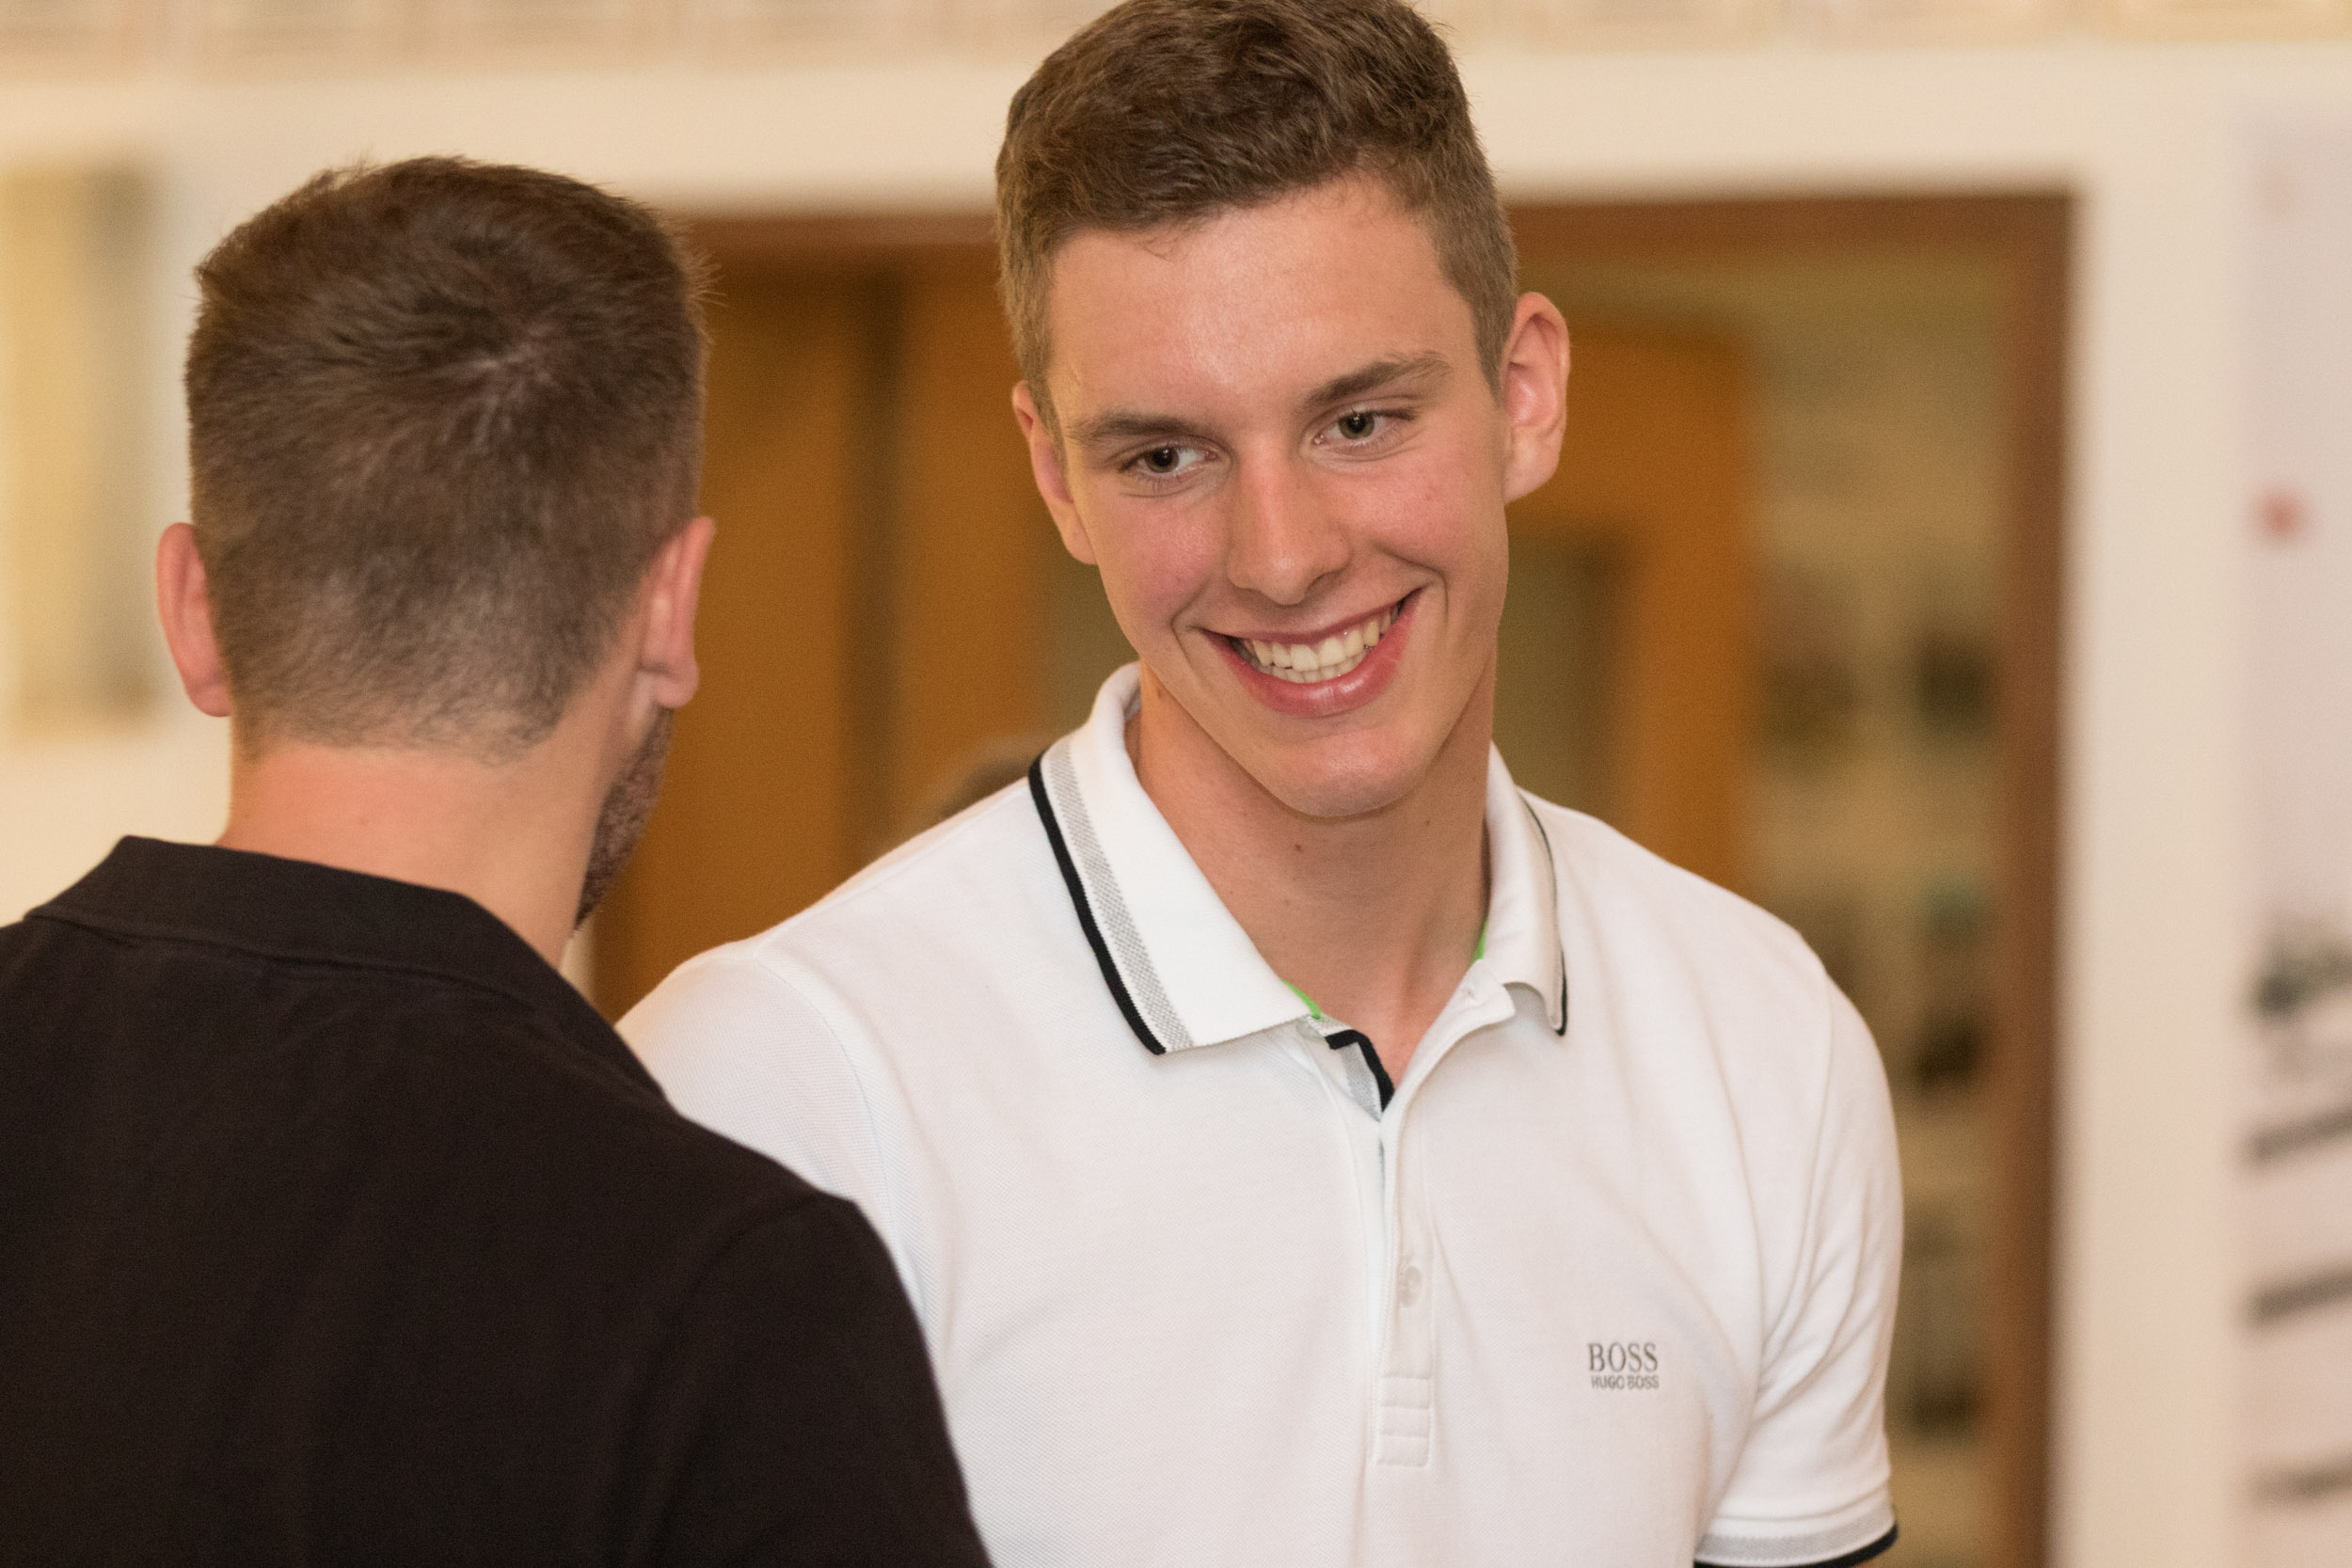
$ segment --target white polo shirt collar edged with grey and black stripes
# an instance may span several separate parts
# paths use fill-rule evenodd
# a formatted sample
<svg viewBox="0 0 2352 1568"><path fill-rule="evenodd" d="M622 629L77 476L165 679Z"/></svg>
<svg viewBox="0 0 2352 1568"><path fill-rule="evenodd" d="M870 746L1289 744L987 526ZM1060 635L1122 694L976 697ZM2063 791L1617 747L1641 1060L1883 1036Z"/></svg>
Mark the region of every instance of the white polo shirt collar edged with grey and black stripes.
<svg viewBox="0 0 2352 1568"><path fill-rule="evenodd" d="M1087 724L1030 764L1030 797L1103 983L1152 1053L1308 1023L1305 1001L1265 964L1143 792L1127 755L1138 693L1141 670L1127 665L1103 682ZM1541 997L1552 1032L1564 1032L1552 856L1496 752L1486 762L1486 844L1494 891L1482 964L1498 983Z"/></svg>

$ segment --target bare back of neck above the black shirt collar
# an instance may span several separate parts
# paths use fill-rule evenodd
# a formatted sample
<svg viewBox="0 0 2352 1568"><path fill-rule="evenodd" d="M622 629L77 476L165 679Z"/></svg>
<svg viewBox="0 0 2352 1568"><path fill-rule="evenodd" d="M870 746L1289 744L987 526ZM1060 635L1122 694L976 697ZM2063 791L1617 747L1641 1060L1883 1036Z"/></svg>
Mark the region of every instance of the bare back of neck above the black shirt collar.
<svg viewBox="0 0 2352 1568"><path fill-rule="evenodd" d="M562 731L557 731L562 736ZM595 832L595 759L555 741L485 764L423 748L287 741L230 769L223 849L437 886L562 959Z"/></svg>

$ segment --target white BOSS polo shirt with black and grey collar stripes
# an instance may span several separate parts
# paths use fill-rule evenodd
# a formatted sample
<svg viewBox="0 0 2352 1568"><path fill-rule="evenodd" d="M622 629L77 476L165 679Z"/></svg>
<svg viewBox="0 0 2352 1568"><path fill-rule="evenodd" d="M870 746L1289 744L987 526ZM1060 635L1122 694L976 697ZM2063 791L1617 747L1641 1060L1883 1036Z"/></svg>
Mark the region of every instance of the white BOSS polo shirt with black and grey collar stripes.
<svg viewBox="0 0 2352 1568"><path fill-rule="evenodd" d="M1804 943L1496 757L1484 952L1383 1095L1134 701L621 1025L882 1232L1000 1568L1884 1547L1893 1121Z"/></svg>

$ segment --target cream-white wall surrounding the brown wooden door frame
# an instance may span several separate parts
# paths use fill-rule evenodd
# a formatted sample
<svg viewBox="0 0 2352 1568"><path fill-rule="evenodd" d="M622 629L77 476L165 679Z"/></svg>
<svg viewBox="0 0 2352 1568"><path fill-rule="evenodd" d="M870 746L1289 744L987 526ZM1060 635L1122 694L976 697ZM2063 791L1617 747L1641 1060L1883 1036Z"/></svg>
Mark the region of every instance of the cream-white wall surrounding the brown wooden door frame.
<svg viewBox="0 0 2352 1568"><path fill-rule="evenodd" d="M169 339L228 223L355 153L543 162L696 207L978 207L1018 59L325 82L0 85L0 160L127 153ZM1541 56L1472 49L1515 197L2082 197L2067 583L2058 1561L2239 1559L2230 1046L2249 973L2239 583L2244 139L2352 115L2352 45ZM160 355L160 360L165 360ZM158 364L158 400L169 397ZM172 428L169 423L165 428ZM155 517L179 482L158 477ZM0 917L122 830L219 820L219 738L0 750Z"/></svg>

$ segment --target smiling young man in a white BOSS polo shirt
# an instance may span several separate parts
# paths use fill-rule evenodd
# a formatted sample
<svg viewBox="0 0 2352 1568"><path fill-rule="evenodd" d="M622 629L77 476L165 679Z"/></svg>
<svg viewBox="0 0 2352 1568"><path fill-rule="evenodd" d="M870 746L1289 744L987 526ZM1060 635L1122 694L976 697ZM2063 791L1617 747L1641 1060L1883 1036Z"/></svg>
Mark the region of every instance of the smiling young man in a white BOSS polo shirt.
<svg viewBox="0 0 2352 1568"><path fill-rule="evenodd" d="M866 1206L1000 1563L1875 1556L1870 1037L1491 748L1569 346L1444 47L1129 0L997 209L1037 487L1141 663L630 1037Z"/></svg>

